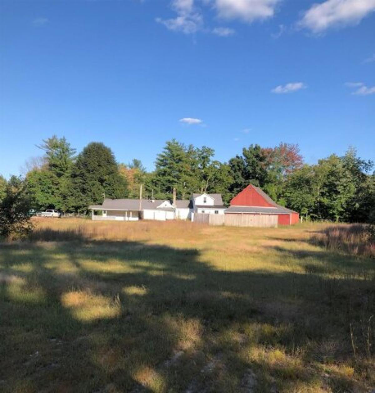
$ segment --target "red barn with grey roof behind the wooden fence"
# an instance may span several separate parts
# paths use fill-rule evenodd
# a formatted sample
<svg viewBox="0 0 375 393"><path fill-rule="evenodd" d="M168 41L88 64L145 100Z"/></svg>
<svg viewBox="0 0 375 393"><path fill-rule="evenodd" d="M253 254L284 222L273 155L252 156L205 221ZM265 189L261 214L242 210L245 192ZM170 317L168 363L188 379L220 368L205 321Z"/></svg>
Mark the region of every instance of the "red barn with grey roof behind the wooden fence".
<svg viewBox="0 0 375 393"><path fill-rule="evenodd" d="M230 201L230 207L225 214L277 215L278 225L292 225L299 220L296 211L278 205L259 187L252 184Z"/></svg>

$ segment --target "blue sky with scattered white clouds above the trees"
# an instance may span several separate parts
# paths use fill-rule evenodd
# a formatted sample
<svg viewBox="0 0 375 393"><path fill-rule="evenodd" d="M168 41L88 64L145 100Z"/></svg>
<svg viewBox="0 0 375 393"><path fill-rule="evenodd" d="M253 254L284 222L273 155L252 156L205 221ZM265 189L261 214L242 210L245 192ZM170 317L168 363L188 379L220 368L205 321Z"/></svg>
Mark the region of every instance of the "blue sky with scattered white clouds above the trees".
<svg viewBox="0 0 375 393"><path fill-rule="evenodd" d="M316 2L316 4L315 4ZM315 5L314 5L315 4ZM166 140L375 159L375 0L0 2L0 173L52 134L148 169Z"/></svg>

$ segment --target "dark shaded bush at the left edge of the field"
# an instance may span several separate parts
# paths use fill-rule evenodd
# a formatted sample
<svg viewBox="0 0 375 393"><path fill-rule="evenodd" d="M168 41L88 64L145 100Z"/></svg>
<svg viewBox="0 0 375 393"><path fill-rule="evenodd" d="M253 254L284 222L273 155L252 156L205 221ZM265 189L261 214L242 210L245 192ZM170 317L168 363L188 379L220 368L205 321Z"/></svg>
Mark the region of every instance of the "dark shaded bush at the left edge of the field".
<svg viewBox="0 0 375 393"><path fill-rule="evenodd" d="M0 236L7 239L24 238L33 230L30 221L30 200L25 192L25 184L16 176L11 176L5 187L5 195L0 202Z"/></svg>

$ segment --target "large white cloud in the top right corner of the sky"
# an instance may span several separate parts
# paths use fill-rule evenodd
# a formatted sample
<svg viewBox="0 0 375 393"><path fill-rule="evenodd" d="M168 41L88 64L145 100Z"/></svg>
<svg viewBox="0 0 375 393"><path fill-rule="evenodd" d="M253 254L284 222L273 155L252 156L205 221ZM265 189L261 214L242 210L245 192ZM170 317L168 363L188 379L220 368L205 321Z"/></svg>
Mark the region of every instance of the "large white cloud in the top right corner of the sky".
<svg viewBox="0 0 375 393"><path fill-rule="evenodd" d="M375 0L326 0L308 9L298 25L320 33L332 26L359 23L375 11Z"/></svg>

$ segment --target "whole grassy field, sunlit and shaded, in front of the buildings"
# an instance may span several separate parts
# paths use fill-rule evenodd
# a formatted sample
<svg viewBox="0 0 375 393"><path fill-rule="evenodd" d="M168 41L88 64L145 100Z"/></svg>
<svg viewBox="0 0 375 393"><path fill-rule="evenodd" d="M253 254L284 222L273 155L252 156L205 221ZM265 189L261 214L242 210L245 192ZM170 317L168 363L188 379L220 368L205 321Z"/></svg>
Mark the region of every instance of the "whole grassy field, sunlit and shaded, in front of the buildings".
<svg viewBox="0 0 375 393"><path fill-rule="evenodd" d="M324 231L38 220L0 245L0 391L371 391L375 260Z"/></svg>

